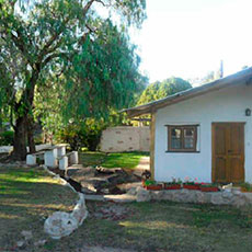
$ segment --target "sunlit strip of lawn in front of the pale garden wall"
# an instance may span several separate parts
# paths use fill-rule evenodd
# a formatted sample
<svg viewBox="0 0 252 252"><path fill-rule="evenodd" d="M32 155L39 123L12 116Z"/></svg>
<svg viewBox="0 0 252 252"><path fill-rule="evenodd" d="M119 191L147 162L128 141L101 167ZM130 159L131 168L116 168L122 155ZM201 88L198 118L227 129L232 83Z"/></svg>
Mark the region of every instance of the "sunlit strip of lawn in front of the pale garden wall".
<svg viewBox="0 0 252 252"><path fill-rule="evenodd" d="M148 152L122 152L108 153L85 151L79 153L80 163L84 167L102 165L104 168L127 168L134 169L141 157L148 157Z"/></svg>

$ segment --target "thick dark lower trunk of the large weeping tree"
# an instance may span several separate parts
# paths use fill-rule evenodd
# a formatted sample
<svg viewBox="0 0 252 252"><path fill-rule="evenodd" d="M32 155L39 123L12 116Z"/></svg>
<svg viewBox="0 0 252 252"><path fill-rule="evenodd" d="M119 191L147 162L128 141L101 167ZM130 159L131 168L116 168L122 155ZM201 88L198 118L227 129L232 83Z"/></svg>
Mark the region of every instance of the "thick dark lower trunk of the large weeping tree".
<svg viewBox="0 0 252 252"><path fill-rule="evenodd" d="M25 160L27 154L26 136L27 136L26 116L20 116L15 122L14 128L14 149L12 157L15 160Z"/></svg>

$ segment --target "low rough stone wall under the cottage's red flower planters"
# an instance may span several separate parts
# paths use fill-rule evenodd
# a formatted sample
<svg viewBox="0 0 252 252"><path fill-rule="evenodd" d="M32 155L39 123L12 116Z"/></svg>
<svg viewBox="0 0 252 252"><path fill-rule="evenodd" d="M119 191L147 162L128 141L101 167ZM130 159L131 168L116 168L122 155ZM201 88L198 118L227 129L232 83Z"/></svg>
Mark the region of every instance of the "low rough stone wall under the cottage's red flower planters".
<svg viewBox="0 0 252 252"><path fill-rule="evenodd" d="M252 193L242 193L239 188L226 188L220 192L205 193L197 190L136 190L137 202L172 201L180 203L232 205L237 207L252 205Z"/></svg>

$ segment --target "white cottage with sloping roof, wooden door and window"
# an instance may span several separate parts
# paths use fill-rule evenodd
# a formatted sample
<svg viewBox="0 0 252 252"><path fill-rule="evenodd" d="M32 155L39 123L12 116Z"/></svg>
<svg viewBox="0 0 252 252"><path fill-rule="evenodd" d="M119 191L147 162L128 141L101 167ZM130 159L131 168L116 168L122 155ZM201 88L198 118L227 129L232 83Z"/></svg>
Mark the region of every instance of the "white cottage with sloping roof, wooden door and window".
<svg viewBox="0 0 252 252"><path fill-rule="evenodd" d="M146 105L151 114L151 174L199 182L252 183L252 68Z"/></svg>

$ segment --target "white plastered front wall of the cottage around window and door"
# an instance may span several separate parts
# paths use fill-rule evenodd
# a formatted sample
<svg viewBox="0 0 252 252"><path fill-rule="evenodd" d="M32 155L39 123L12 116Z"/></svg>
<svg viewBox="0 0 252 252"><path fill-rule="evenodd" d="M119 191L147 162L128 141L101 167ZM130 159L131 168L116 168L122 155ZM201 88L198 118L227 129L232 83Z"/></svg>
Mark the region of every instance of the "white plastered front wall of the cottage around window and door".
<svg viewBox="0 0 252 252"><path fill-rule="evenodd" d="M156 114L156 181L197 177L211 182L211 123L245 122L245 181L252 182L252 85L240 84L197 96L157 111ZM168 124L199 124L198 153L171 153L168 148Z"/></svg>

